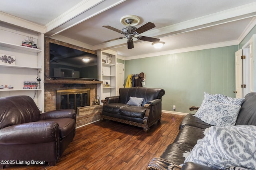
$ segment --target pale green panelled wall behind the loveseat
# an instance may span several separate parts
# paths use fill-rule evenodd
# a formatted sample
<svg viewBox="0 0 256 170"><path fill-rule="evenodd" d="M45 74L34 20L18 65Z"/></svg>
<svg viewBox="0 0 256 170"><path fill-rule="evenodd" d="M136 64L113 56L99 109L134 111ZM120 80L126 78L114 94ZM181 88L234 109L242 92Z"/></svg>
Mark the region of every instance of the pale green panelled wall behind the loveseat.
<svg viewBox="0 0 256 170"><path fill-rule="evenodd" d="M162 109L192 113L204 92L235 97L235 52L238 45L125 61L125 78L144 72L144 87L163 88ZM125 80L125 82L126 82Z"/></svg>

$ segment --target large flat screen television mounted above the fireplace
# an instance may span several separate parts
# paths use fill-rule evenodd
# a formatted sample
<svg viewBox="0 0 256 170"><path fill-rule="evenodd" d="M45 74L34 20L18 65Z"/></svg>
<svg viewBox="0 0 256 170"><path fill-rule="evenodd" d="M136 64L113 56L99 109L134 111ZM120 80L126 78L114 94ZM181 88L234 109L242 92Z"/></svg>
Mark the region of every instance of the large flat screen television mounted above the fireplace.
<svg viewBox="0 0 256 170"><path fill-rule="evenodd" d="M50 77L98 80L98 57L50 43Z"/></svg>

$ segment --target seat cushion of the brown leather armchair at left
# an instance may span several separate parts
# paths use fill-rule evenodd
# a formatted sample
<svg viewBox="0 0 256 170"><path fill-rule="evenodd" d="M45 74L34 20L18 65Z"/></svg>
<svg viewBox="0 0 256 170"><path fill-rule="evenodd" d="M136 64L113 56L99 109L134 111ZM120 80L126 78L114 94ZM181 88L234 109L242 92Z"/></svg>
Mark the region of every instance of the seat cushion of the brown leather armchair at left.
<svg viewBox="0 0 256 170"><path fill-rule="evenodd" d="M46 119L42 121L54 121L58 123L60 129L60 138L64 138L70 134L71 131L74 130L76 126L76 122L71 118L61 118L61 119Z"/></svg>

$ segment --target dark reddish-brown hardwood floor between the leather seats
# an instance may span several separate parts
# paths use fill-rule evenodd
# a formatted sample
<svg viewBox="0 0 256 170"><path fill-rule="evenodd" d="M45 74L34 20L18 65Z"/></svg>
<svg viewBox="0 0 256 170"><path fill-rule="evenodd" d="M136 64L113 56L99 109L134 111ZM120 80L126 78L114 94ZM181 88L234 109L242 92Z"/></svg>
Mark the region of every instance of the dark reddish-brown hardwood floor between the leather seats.
<svg viewBox="0 0 256 170"><path fill-rule="evenodd" d="M6 170L145 170L178 134L182 115L162 113L162 121L144 133L140 127L97 121L76 129L56 166L6 166Z"/></svg>

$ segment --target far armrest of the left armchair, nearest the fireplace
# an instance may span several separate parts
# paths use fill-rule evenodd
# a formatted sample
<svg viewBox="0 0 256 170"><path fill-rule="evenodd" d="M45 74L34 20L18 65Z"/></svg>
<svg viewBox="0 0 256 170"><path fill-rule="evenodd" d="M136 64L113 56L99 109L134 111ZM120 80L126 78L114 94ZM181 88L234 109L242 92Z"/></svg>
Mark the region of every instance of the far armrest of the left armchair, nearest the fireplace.
<svg viewBox="0 0 256 170"><path fill-rule="evenodd" d="M59 109L54 111L47 111L40 114L41 120L46 119L60 119L60 118L71 118L76 121L76 110L74 109Z"/></svg>

